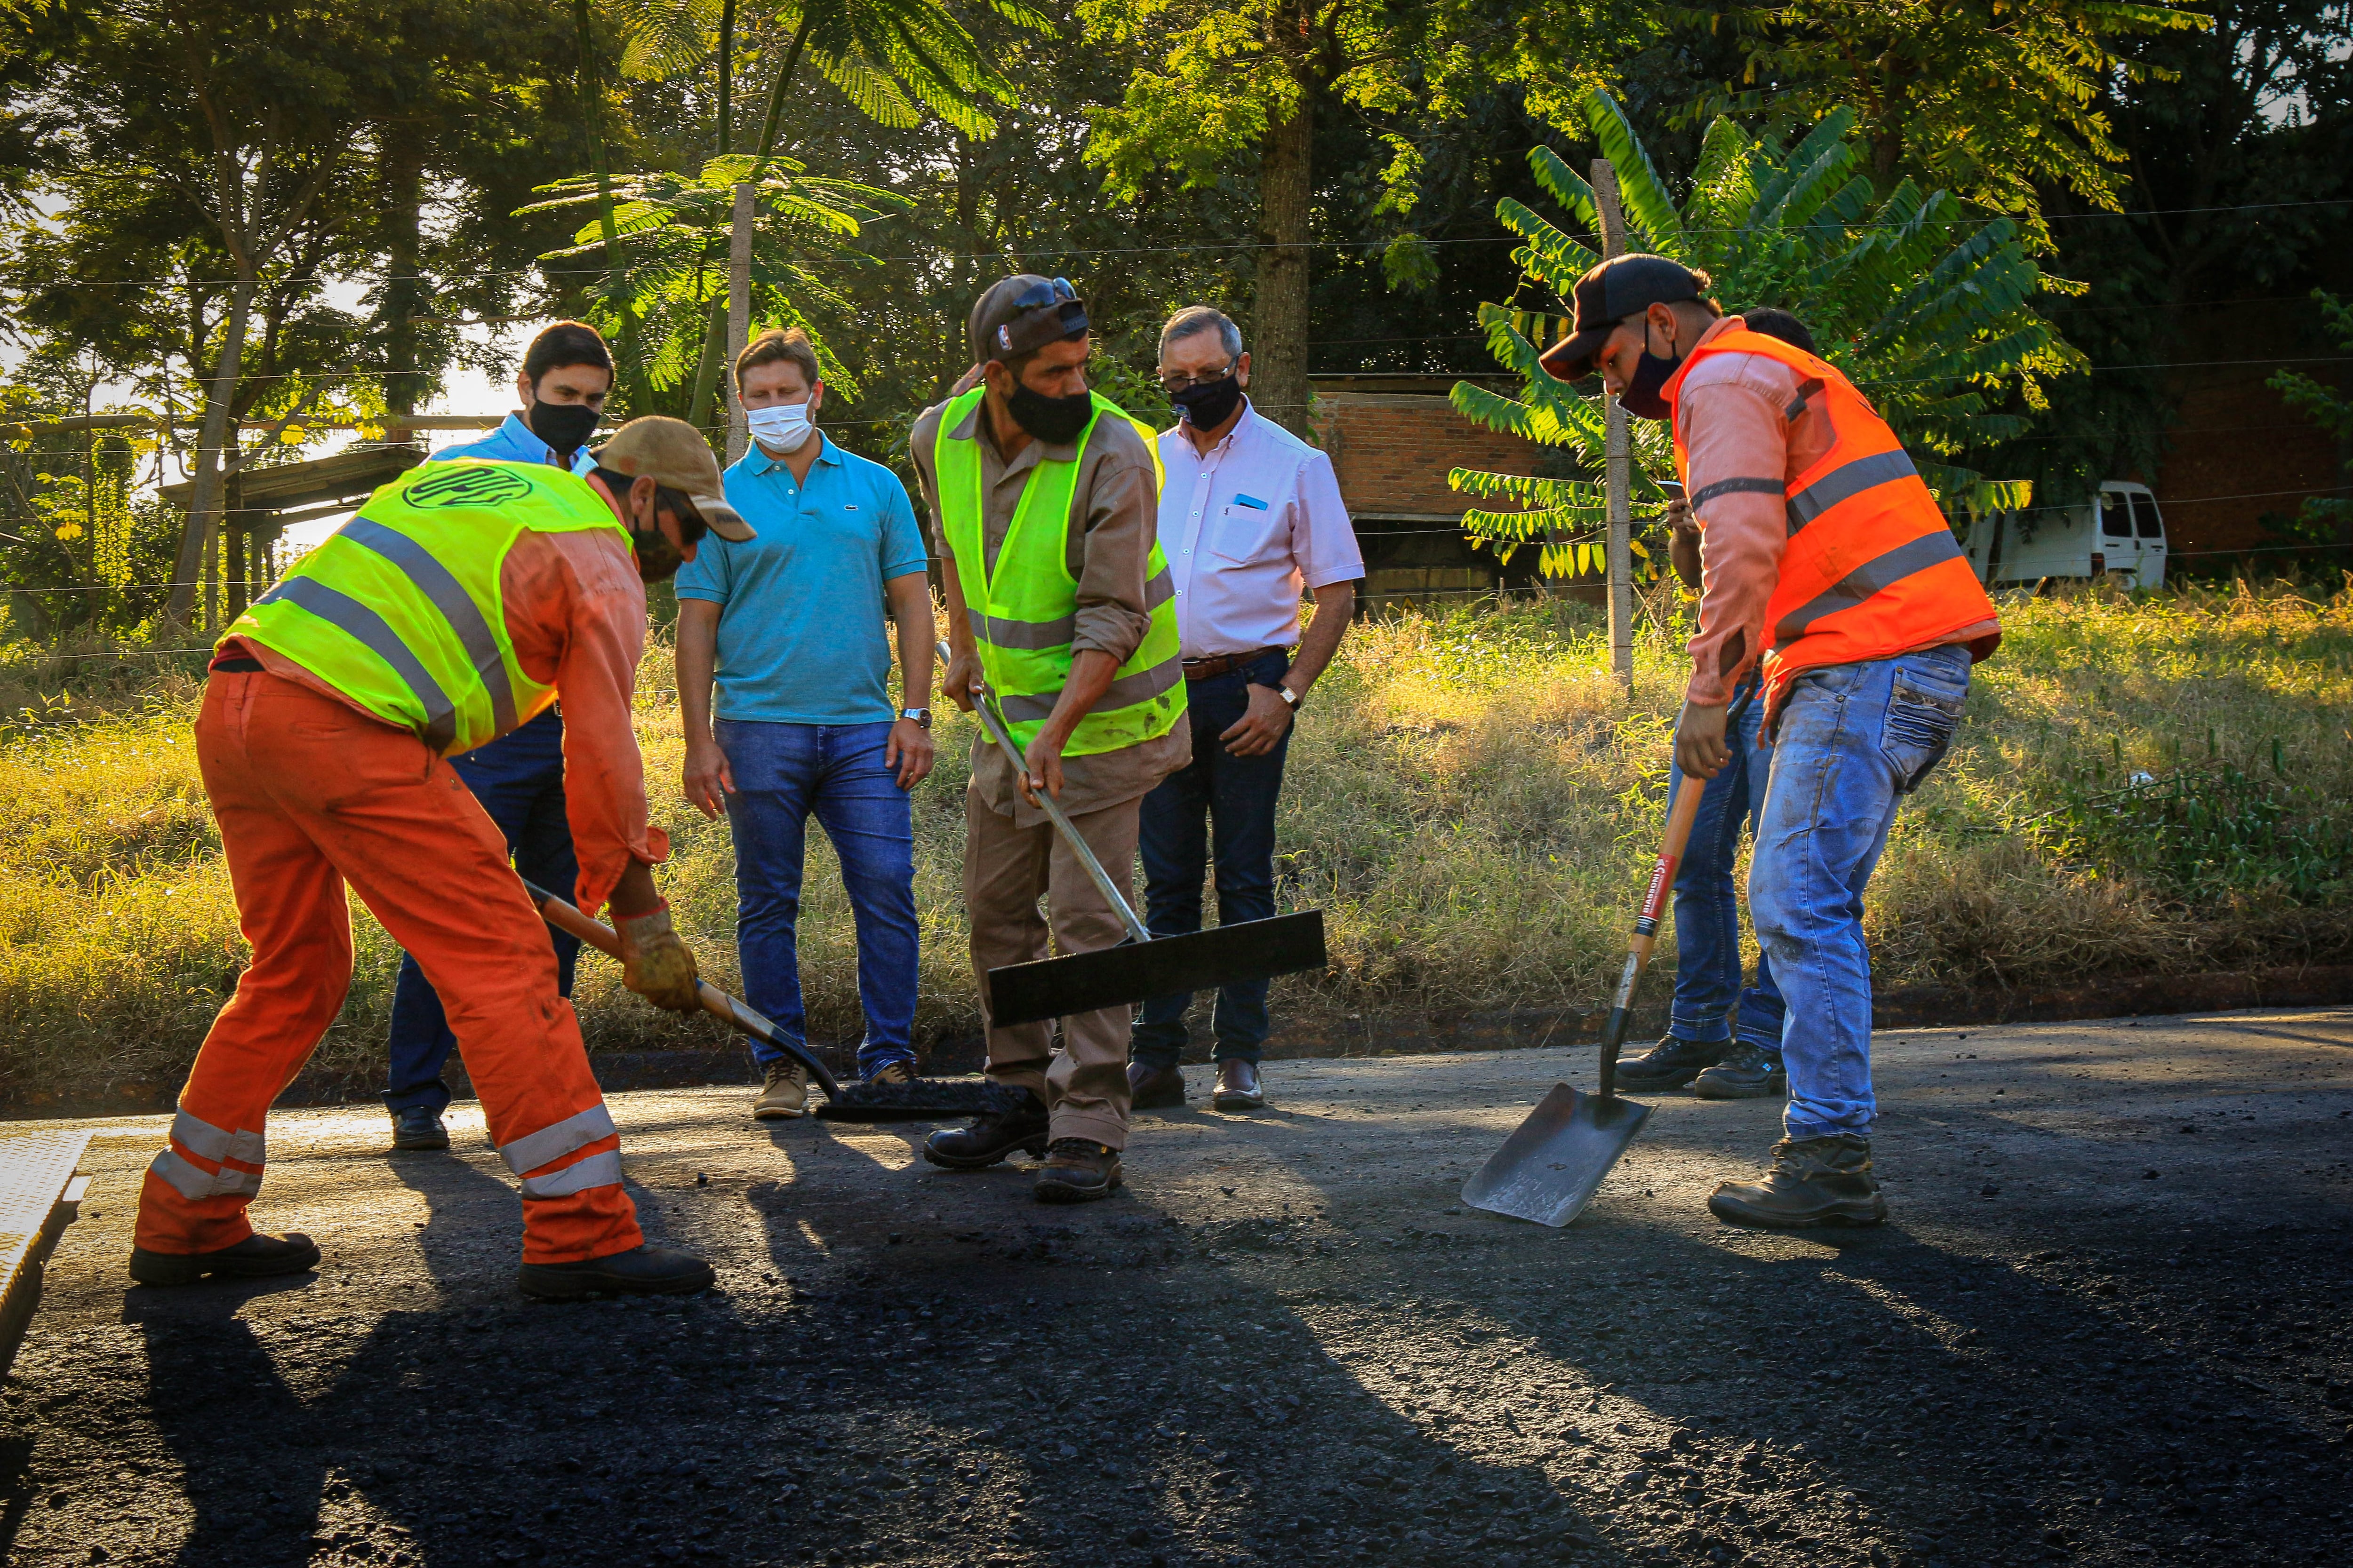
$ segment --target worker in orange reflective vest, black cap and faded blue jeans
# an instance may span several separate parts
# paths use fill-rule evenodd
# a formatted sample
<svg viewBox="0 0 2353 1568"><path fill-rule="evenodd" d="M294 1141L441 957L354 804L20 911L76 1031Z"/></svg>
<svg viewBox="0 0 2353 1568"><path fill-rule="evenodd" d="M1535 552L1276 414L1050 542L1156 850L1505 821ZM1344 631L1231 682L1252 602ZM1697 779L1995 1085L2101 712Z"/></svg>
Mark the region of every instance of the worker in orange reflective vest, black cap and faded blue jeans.
<svg viewBox="0 0 2353 1568"><path fill-rule="evenodd" d="M1725 705L1765 658L1772 764L1748 912L1788 1001L1791 1098L1772 1168L1720 1185L1708 1208L1875 1225L1864 884L2002 632L1887 421L1838 367L1748 331L1706 289L1666 256L1614 256L1577 282L1577 331L1544 367L1565 381L1600 369L1628 414L1673 421L1704 578L1675 729L1692 778L1729 764Z"/></svg>

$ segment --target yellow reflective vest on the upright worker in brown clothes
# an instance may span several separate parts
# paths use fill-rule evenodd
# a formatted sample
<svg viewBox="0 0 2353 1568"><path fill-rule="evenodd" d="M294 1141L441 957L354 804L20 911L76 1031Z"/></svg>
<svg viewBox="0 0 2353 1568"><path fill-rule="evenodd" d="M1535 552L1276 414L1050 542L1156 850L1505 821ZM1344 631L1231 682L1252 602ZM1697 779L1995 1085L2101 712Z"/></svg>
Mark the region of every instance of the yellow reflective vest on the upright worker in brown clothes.
<svg viewBox="0 0 2353 1568"><path fill-rule="evenodd" d="M1071 639L1078 635L1078 578L1071 576L1068 531L1071 501L1078 491L1078 465L1087 456L1087 437L1106 418L1127 418L1108 397L1094 397L1094 418L1078 433L1071 461L1047 458L1021 484L998 567L988 571L988 545L981 520L981 442L988 433L974 418L972 440L948 433L981 407L984 388L953 400L939 414L939 437L932 444L932 473L939 477L939 531L955 555L955 578L965 588L972 614L972 637L979 644L981 672L995 691L1005 726L1024 748L1045 726L1071 679ZM1151 428L1127 418L1153 454L1153 491L1160 489L1160 447ZM1176 729L1184 717L1184 665L1176 656L1176 590L1167 557L1153 541L1146 564L1144 604L1151 630L1134 656L1118 668L1111 691L1071 731L1068 757L1115 752Z"/></svg>

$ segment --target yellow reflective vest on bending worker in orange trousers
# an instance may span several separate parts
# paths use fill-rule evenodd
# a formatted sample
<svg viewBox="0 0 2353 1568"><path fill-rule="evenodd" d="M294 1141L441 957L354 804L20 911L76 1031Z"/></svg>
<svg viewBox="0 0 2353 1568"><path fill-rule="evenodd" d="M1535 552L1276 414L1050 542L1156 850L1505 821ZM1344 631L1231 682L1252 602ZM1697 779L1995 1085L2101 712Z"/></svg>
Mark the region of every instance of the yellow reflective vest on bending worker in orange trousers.
<svg viewBox="0 0 2353 1568"><path fill-rule="evenodd" d="M539 717L555 686L515 663L499 569L522 534L628 531L548 463L456 458L393 480L294 562L221 642L285 654L442 757Z"/></svg>

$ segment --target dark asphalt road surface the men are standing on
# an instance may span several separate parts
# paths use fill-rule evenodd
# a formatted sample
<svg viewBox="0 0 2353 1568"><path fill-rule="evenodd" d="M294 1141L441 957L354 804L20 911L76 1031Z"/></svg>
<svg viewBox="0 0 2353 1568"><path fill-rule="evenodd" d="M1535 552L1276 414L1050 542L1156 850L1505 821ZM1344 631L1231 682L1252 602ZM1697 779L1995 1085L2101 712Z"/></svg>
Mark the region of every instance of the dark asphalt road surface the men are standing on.
<svg viewBox="0 0 2353 1568"><path fill-rule="evenodd" d="M318 1276L132 1288L94 1124L0 1410L7 1563L2344 1563L2353 1011L1882 1034L1878 1232L1718 1227L1659 1095L1569 1229L1457 1185L1591 1048L1280 1063L1040 1208L920 1128L614 1095L659 1305L527 1305L454 1117L271 1126ZM1200 1070L1193 1072L1202 1077ZM1200 1084L1195 1084L1200 1091Z"/></svg>

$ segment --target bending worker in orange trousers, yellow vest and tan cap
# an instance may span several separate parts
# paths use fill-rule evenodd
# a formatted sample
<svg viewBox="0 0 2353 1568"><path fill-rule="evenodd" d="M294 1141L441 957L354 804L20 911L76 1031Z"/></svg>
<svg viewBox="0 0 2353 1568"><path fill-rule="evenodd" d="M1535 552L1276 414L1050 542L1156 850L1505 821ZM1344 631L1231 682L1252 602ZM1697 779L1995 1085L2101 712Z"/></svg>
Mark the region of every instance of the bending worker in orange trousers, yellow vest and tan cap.
<svg viewBox="0 0 2353 1568"><path fill-rule="evenodd" d="M619 1133L588 1072L555 950L506 839L449 766L565 701L565 806L584 910L612 900L624 976L696 1011L694 957L652 865L631 691L645 583L704 531L748 538L711 449L638 418L586 477L456 461L386 484L221 637L195 722L198 766L254 959L212 1023L139 1197L132 1276L292 1274L308 1237L266 1237L271 1100L351 987L351 884L424 969L489 1135L522 1180L532 1295L699 1291L711 1267L645 1244Z"/></svg>

